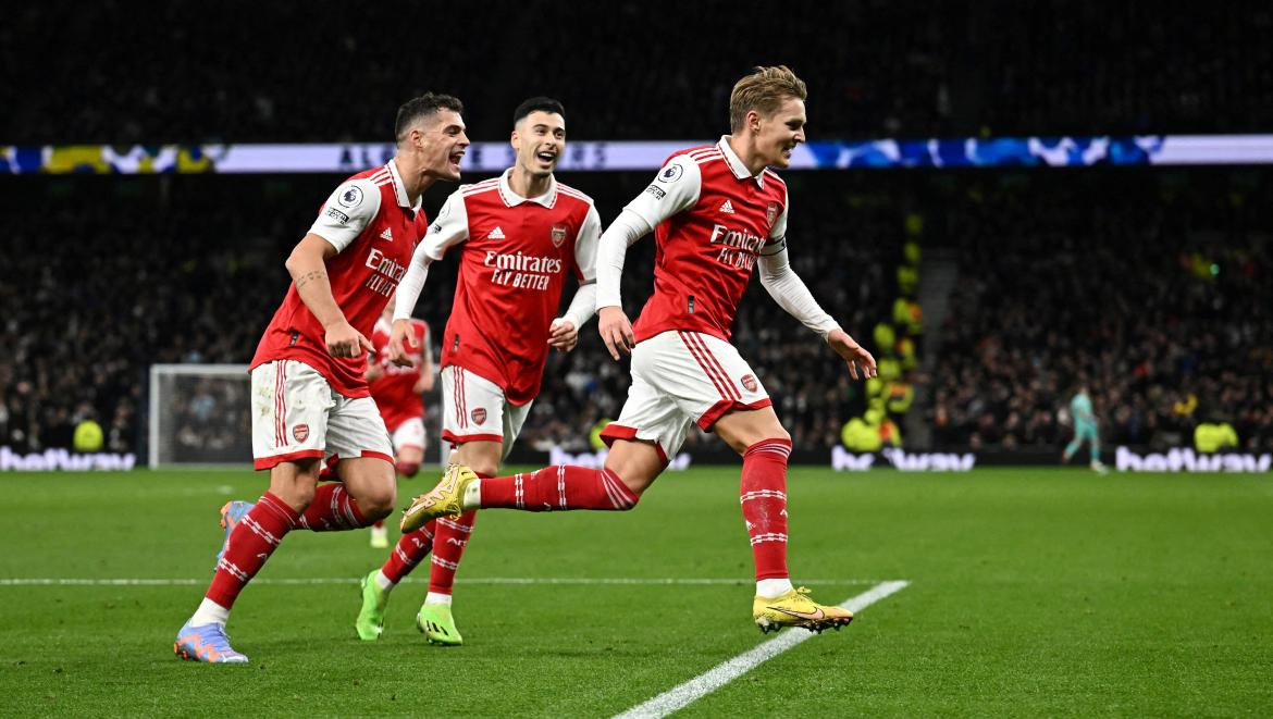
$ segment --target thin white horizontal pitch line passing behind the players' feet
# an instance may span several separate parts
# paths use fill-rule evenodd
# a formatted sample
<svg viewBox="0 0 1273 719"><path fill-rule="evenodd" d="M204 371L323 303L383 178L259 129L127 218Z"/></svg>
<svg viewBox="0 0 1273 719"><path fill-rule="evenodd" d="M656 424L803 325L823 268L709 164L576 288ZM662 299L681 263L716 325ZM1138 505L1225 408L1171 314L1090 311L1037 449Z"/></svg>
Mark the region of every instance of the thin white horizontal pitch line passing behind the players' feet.
<svg viewBox="0 0 1273 719"><path fill-rule="evenodd" d="M360 576L261 578L252 584L358 584ZM0 587L187 587L207 584L202 579L80 579L80 578L0 578ZM428 584L428 579L407 578L405 583ZM456 579L461 584L728 584L751 585L751 579L723 578L635 578L635 576L471 576ZM808 584L876 584L878 579L810 579Z"/></svg>

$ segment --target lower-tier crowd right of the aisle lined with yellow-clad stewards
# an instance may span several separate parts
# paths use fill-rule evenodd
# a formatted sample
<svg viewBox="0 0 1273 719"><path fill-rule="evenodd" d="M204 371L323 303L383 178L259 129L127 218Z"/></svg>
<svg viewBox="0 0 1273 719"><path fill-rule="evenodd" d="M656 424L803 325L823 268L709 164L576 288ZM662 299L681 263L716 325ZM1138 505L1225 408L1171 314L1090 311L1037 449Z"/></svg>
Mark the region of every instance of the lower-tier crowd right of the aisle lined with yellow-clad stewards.
<svg viewBox="0 0 1273 719"><path fill-rule="evenodd" d="M978 178L948 213L960 284L941 328L939 444L1059 447L1083 383L1106 443L1231 424L1273 449L1273 221L1263 172Z"/></svg>

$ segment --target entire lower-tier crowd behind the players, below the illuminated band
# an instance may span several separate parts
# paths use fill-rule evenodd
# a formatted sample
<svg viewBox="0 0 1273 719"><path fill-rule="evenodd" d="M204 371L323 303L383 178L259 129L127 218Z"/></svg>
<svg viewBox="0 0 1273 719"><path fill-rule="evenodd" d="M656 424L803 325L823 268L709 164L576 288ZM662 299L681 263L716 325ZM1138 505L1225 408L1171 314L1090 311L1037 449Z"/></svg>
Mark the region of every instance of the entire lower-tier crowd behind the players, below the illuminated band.
<svg viewBox="0 0 1273 719"><path fill-rule="evenodd" d="M610 218L647 178L564 179ZM107 448L143 447L149 365L247 361L286 286L283 258L312 220L316 202L298 199L321 199L331 183L39 181L0 265L0 342L9 347L0 356L0 444L65 447L79 420L95 417ZM444 192L425 206L437 207ZM1068 429L1058 410L1082 378L1106 443L1186 445L1198 422L1223 420L1242 447L1273 448L1267 172L796 174L792 192L797 270L880 355L872 328L891 317L899 293L890 269L909 237L908 215L923 213L925 244L957 248L950 314L928 330L939 333L939 353L932 372L914 378L929 389L931 402L915 411L938 447L1059 447ZM59 211L89 193L108 201ZM75 251L39 251L57 243ZM653 249L645 239L629 253L631 316L651 291ZM420 316L434 327L446 322L453 283L452 261L430 274ZM836 444L844 422L866 408L863 387L759 283L749 293L735 333L743 356L798 447ZM616 416L626 377L591 325L575 353L551 356L524 443L587 448L593 424ZM206 424L211 408L233 400L216 383L192 387L174 410L183 422ZM215 436L182 439L178 428L176 440L191 449L236 442L234 422L213 424ZM691 433L690 445L704 436Z"/></svg>

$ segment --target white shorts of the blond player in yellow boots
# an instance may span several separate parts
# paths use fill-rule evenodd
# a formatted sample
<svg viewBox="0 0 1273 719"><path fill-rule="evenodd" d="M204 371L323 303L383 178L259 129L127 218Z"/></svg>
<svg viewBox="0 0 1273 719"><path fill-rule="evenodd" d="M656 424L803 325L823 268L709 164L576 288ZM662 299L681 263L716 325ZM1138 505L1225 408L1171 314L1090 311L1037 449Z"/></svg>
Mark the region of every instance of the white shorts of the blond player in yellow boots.
<svg viewBox="0 0 1273 719"><path fill-rule="evenodd" d="M729 410L769 405L769 393L733 345L701 332L668 331L633 350L628 401L601 438L607 445L615 439L653 442L667 462L691 422L709 430Z"/></svg>

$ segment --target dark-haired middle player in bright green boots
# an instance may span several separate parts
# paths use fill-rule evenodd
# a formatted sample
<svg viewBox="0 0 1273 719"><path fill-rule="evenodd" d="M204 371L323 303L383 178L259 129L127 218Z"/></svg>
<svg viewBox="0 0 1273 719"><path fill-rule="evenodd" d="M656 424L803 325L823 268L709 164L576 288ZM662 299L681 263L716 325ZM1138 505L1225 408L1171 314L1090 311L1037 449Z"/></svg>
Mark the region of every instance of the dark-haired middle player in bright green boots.
<svg viewBox="0 0 1273 719"><path fill-rule="evenodd" d="M596 305L601 219L587 195L552 177L565 151L561 103L540 97L518 106L510 143L516 165L461 187L438 211L402 280L390 342L395 361L414 351L407 318L429 263L463 243L442 336L442 436L457 447L456 461L486 477L495 475L530 414L549 349L574 349ZM565 314L554 319L566 274L575 276L579 290ZM405 533L384 566L363 582L358 635L379 636L390 590L432 550L429 594L416 625L430 643L461 644L451 592L472 524L470 512Z"/></svg>

